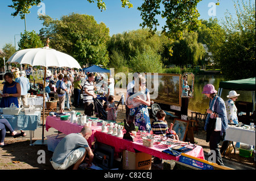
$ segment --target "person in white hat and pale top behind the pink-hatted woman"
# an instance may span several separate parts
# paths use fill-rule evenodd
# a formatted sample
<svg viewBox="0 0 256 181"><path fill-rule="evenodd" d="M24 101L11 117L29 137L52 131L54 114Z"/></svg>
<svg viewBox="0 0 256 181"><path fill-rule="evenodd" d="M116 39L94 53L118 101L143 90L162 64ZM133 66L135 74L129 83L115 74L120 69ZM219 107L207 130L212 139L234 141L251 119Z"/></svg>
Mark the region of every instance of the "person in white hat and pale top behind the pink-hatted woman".
<svg viewBox="0 0 256 181"><path fill-rule="evenodd" d="M237 107L236 107L236 104L234 103L238 98L238 96L240 96L240 94L237 94L237 92L233 90L230 91L229 95L226 96L227 98L229 98L225 102L229 123L238 124Z"/></svg>

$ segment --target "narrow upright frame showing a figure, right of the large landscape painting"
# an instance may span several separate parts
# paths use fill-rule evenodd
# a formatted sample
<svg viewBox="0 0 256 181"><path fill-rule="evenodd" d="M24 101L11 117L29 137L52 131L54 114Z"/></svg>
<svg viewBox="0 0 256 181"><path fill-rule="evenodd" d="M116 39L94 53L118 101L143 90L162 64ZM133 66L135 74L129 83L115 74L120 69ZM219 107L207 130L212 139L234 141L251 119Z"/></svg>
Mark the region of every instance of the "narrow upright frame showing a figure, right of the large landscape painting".
<svg viewBox="0 0 256 181"><path fill-rule="evenodd" d="M192 73L184 73L181 77L181 97L193 98L195 76Z"/></svg>

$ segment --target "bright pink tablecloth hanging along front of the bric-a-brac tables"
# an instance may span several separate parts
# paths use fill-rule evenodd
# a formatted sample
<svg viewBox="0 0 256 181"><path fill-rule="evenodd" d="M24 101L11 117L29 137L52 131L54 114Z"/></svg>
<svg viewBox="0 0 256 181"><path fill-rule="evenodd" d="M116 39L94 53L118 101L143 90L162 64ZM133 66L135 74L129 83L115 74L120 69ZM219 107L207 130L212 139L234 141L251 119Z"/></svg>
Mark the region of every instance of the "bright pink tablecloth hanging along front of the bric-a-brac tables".
<svg viewBox="0 0 256 181"><path fill-rule="evenodd" d="M82 129L82 126L77 125L76 123L70 123L69 121L62 121L59 118L48 116L46 119L46 131L48 131L48 129L51 127L57 129L64 134L78 133ZM143 146L143 142L139 132L137 132L137 137L134 138L134 142L131 142L128 140L124 140L122 137L119 138L116 136L112 136L111 134L102 133L101 123L98 123L97 127L92 127L92 131L93 134L88 140L89 145L92 141L94 141L95 137L98 142L113 146L115 148L115 153L121 153L123 150L128 150L132 152L138 150L162 159L174 159L176 161L179 160L179 157L174 157L173 155L163 153L162 151L166 150L167 147L163 146L162 144L154 144L151 148ZM123 132L125 132L125 130L123 130ZM204 159L203 148L199 145L197 145L195 149L187 152L186 154L196 158Z"/></svg>

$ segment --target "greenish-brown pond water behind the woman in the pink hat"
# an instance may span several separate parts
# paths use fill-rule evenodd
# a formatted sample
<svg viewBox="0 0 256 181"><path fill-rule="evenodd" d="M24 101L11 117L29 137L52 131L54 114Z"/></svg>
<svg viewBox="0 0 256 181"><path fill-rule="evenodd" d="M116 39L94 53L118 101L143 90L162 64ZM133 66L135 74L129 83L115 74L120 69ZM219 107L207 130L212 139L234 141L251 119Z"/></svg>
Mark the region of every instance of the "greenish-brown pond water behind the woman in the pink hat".
<svg viewBox="0 0 256 181"><path fill-rule="evenodd" d="M214 85L215 89L218 91L218 86L220 85L221 81L228 81L222 75L195 75L195 89L193 98L189 99L188 109L196 112L205 113L205 110L209 108L209 98L204 94L203 88L208 83ZM228 98L226 97L229 95L230 90L222 90L221 98L226 101ZM251 91L236 91L237 94L240 94L238 100L251 102L252 99L252 92Z"/></svg>

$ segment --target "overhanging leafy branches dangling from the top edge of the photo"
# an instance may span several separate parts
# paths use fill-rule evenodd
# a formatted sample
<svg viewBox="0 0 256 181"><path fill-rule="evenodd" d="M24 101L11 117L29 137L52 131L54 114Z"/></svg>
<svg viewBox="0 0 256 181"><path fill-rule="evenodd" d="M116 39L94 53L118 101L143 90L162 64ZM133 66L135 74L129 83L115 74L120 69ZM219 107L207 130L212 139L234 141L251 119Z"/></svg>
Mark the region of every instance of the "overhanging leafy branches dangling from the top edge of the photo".
<svg viewBox="0 0 256 181"><path fill-rule="evenodd" d="M20 14L22 19L24 14L29 13L31 6L38 5L43 0L12 0L12 7L15 12L11 15L16 16ZM105 2L102 0L87 0L89 3L97 2L98 9L106 10ZM156 32L156 27L159 26L157 15L161 15L162 18L166 19L166 25L162 27L162 32L170 38L171 42L174 40L181 39L183 37L183 31L194 30L200 23L197 19L200 14L196 8L197 4L201 0L180 0L180 1L167 1L167 0L144 0L141 7L138 10L141 11L141 17L143 22L140 26L148 27L151 32ZM121 0L122 7L133 7L133 4L129 0ZM161 5L163 11L160 11Z"/></svg>

